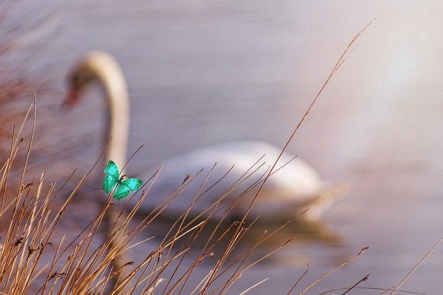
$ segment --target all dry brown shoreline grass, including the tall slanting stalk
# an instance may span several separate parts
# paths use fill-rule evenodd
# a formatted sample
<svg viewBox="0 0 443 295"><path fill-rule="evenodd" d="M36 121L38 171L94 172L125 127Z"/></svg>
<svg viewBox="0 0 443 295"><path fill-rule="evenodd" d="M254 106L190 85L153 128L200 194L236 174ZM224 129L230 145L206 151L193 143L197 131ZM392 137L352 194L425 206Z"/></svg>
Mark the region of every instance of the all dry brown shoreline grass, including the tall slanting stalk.
<svg viewBox="0 0 443 295"><path fill-rule="evenodd" d="M287 144L282 149L282 153L336 70L341 67L352 52L352 46L363 30L345 48L305 115L296 125ZM105 216L109 208L115 205L111 196L108 196L96 216L89 216L89 220L83 220L87 222L84 228L75 233L60 232L60 224L69 215L70 203L80 187L90 177L94 169L102 169L98 166L100 158L91 166L89 173L84 175L75 185L75 189L65 197L62 195L62 191L66 184L72 182L71 177L75 170L62 184L46 183L46 173L28 181L28 160L33 150L37 122L36 97L24 115L23 123L14 124L10 132L6 130L9 120L10 117L1 118L0 122L2 145L8 142L9 146L8 151L0 153L0 294L157 294L160 292L185 294L184 290L190 287L193 290L191 294L228 294L230 287L241 279L244 272L247 272L251 267L260 267L259 263L262 260L293 242L293 238L282 241L280 247L276 247L269 253L251 261L251 254L257 247L290 225L298 216L271 232L264 231L257 240L248 241L250 247L244 253L234 256L233 250L255 223L255 220L248 220L248 213L239 220L230 222L228 227L222 226L222 220L217 222L215 227L206 233L209 238L205 245L201 245L196 241L207 229L206 225L210 221L211 214L206 217L192 218L187 211L177 217L175 222L172 222L169 231L153 246L153 237L141 239L141 233L161 217L163 209L168 206L169 202L173 202L174 198L166 198L165 203L160 207L150 213L145 213L143 220L137 220L136 227L134 227L132 220L143 199L149 195L150 185L155 181L158 173L154 173L152 178L147 180L141 191L128 197L139 198L137 205L130 209L123 208L127 213L120 214L120 219L111 225L110 231L104 230L108 227L105 225ZM31 133L26 134L25 137L24 126L29 120L32 120L33 127ZM278 160L275 161L266 178L260 184L261 187L272 174L277 162ZM51 169L51 162L48 163L48 167ZM174 191L176 196L184 189L183 184ZM256 196L259 193L260 189ZM124 201L123 204L125 203ZM252 205L253 202L251 202ZM407 292L401 291L399 287L419 264L440 245L440 242L396 287L389 289L361 287L360 284L368 279L369 275L367 275L357 282L351 282L350 287L340 290L343 294L359 288L373 289L377 292L391 292L391 294ZM123 267L129 269L129 274L123 278L120 277L116 280L118 283L114 285L115 278L123 273L123 269L112 269L113 261L126 251L143 248L146 243L150 243L150 245L145 247L147 251L145 259L127 261ZM220 244L223 246L219 247ZM355 256L334 267L330 272L306 284L306 287L300 287L302 278L309 272L308 266L305 272L294 279L294 282L289 283L287 294L295 292L296 289L299 294L308 293L312 286L361 256L366 249L368 247L363 247ZM211 263L211 266L208 267L210 271L199 278L199 283L195 283L195 279L191 280L191 278L195 278L195 269L199 263L203 262ZM248 292L253 294L266 280L267 278L264 278L255 285L251 285L242 294ZM329 290L323 294L336 291L339 290ZM408 293L420 294L417 292Z"/></svg>

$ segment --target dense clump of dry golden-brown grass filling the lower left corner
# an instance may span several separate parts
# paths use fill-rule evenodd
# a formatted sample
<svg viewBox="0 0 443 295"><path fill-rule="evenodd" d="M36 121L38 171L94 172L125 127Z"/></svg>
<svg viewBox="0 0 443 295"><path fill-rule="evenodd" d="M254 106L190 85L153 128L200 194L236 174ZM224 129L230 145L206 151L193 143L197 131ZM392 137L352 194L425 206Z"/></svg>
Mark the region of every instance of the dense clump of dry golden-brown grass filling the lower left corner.
<svg viewBox="0 0 443 295"><path fill-rule="evenodd" d="M34 130L35 104L33 110ZM28 114L30 111L31 108L28 110ZM0 131L4 126L4 124L1 126ZM167 270L170 272L170 268L172 268L172 275L167 278L165 287L163 287L164 291L182 291L189 284L189 278L195 267L202 260L215 256L213 249L226 237L228 237L228 245L219 254L219 259L215 262L210 274L195 286L196 292L205 293L210 289L213 289L213 292L226 292L240 274L251 267L251 265L243 265L253 249L262 242L260 240L252 245L251 249L238 258L235 263L225 265L233 248L247 231L241 222L234 222L230 227L224 229L220 226L220 221L219 225L212 229L210 238L206 240L206 245L204 247L199 245L198 251L190 254L190 250L195 248L195 240L204 230L211 214L206 219L197 221L188 218L188 212L185 212L177 218L159 245L146 254L145 260L140 263L127 261L124 267L130 267L132 270L127 276L119 277L123 273L121 272L123 269L111 269L113 260L117 259L124 251L146 241L132 245L135 238L152 225L152 222L159 217L172 200L167 198L144 220L137 222L134 229L129 229L129 223L146 196L147 190L143 191L138 204L128 214L121 214L120 220L111 225L107 236L100 239L103 228L109 227L109 225L105 225L105 216L112 206L109 196L98 215L71 240L68 241L65 234L62 234L61 237L57 236L60 220L66 211L69 211L69 205L75 193L80 189L89 173L84 175L62 204L58 204L60 202L57 202L57 198L60 199L60 191L64 185L57 188L55 184L44 184L44 173L39 178L33 178L29 183L26 183L26 166L34 133L31 133L29 140L25 140L24 137L21 137L23 126L24 123L21 126L13 127L10 152L3 161L0 170L0 220L4 222L0 229L2 238L0 289L4 294L26 294L31 286L33 291L37 290L37 293L42 294L90 294L91 292L94 294L129 294L134 290L150 294L164 280L163 276L166 276ZM24 148L24 144L28 144L28 146ZM26 157L22 161L23 166L20 169L15 169L16 171L21 170L17 182L10 179L10 171L14 169L20 149L26 150ZM97 163L93 165L91 171ZM154 177L155 175L153 175ZM148 182L148 184L150 183L152 182ZM177 196L177 193L185 187L186 182L183 182L182 186L177 188L174 196ZM237 229L234 234L232 234L233 229ZM261 240L265 239L262 237ZM184 266L183 259L185 257L187 261L193 262L186 263ZM223 278L221 279L221 277ZM114 278L118 278L118 280ZM116 285L114 285L114 281L117 282Z"/></svg>

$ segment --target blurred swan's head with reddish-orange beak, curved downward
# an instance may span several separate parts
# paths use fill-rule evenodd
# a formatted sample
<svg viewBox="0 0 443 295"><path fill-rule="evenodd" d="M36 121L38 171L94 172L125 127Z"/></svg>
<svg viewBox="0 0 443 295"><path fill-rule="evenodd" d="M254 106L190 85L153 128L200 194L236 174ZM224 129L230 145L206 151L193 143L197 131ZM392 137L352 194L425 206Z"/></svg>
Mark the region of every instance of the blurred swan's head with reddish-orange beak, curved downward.
<svg viewBox="0 0 443 295"><path fill-rule="evenodd" d="M77 61L68 75L64 106L76 104L87 86L99 82L107 91L123 74L116 59L104 51L93 51ZM124 83L124 80L123 80Z"/></svg>

